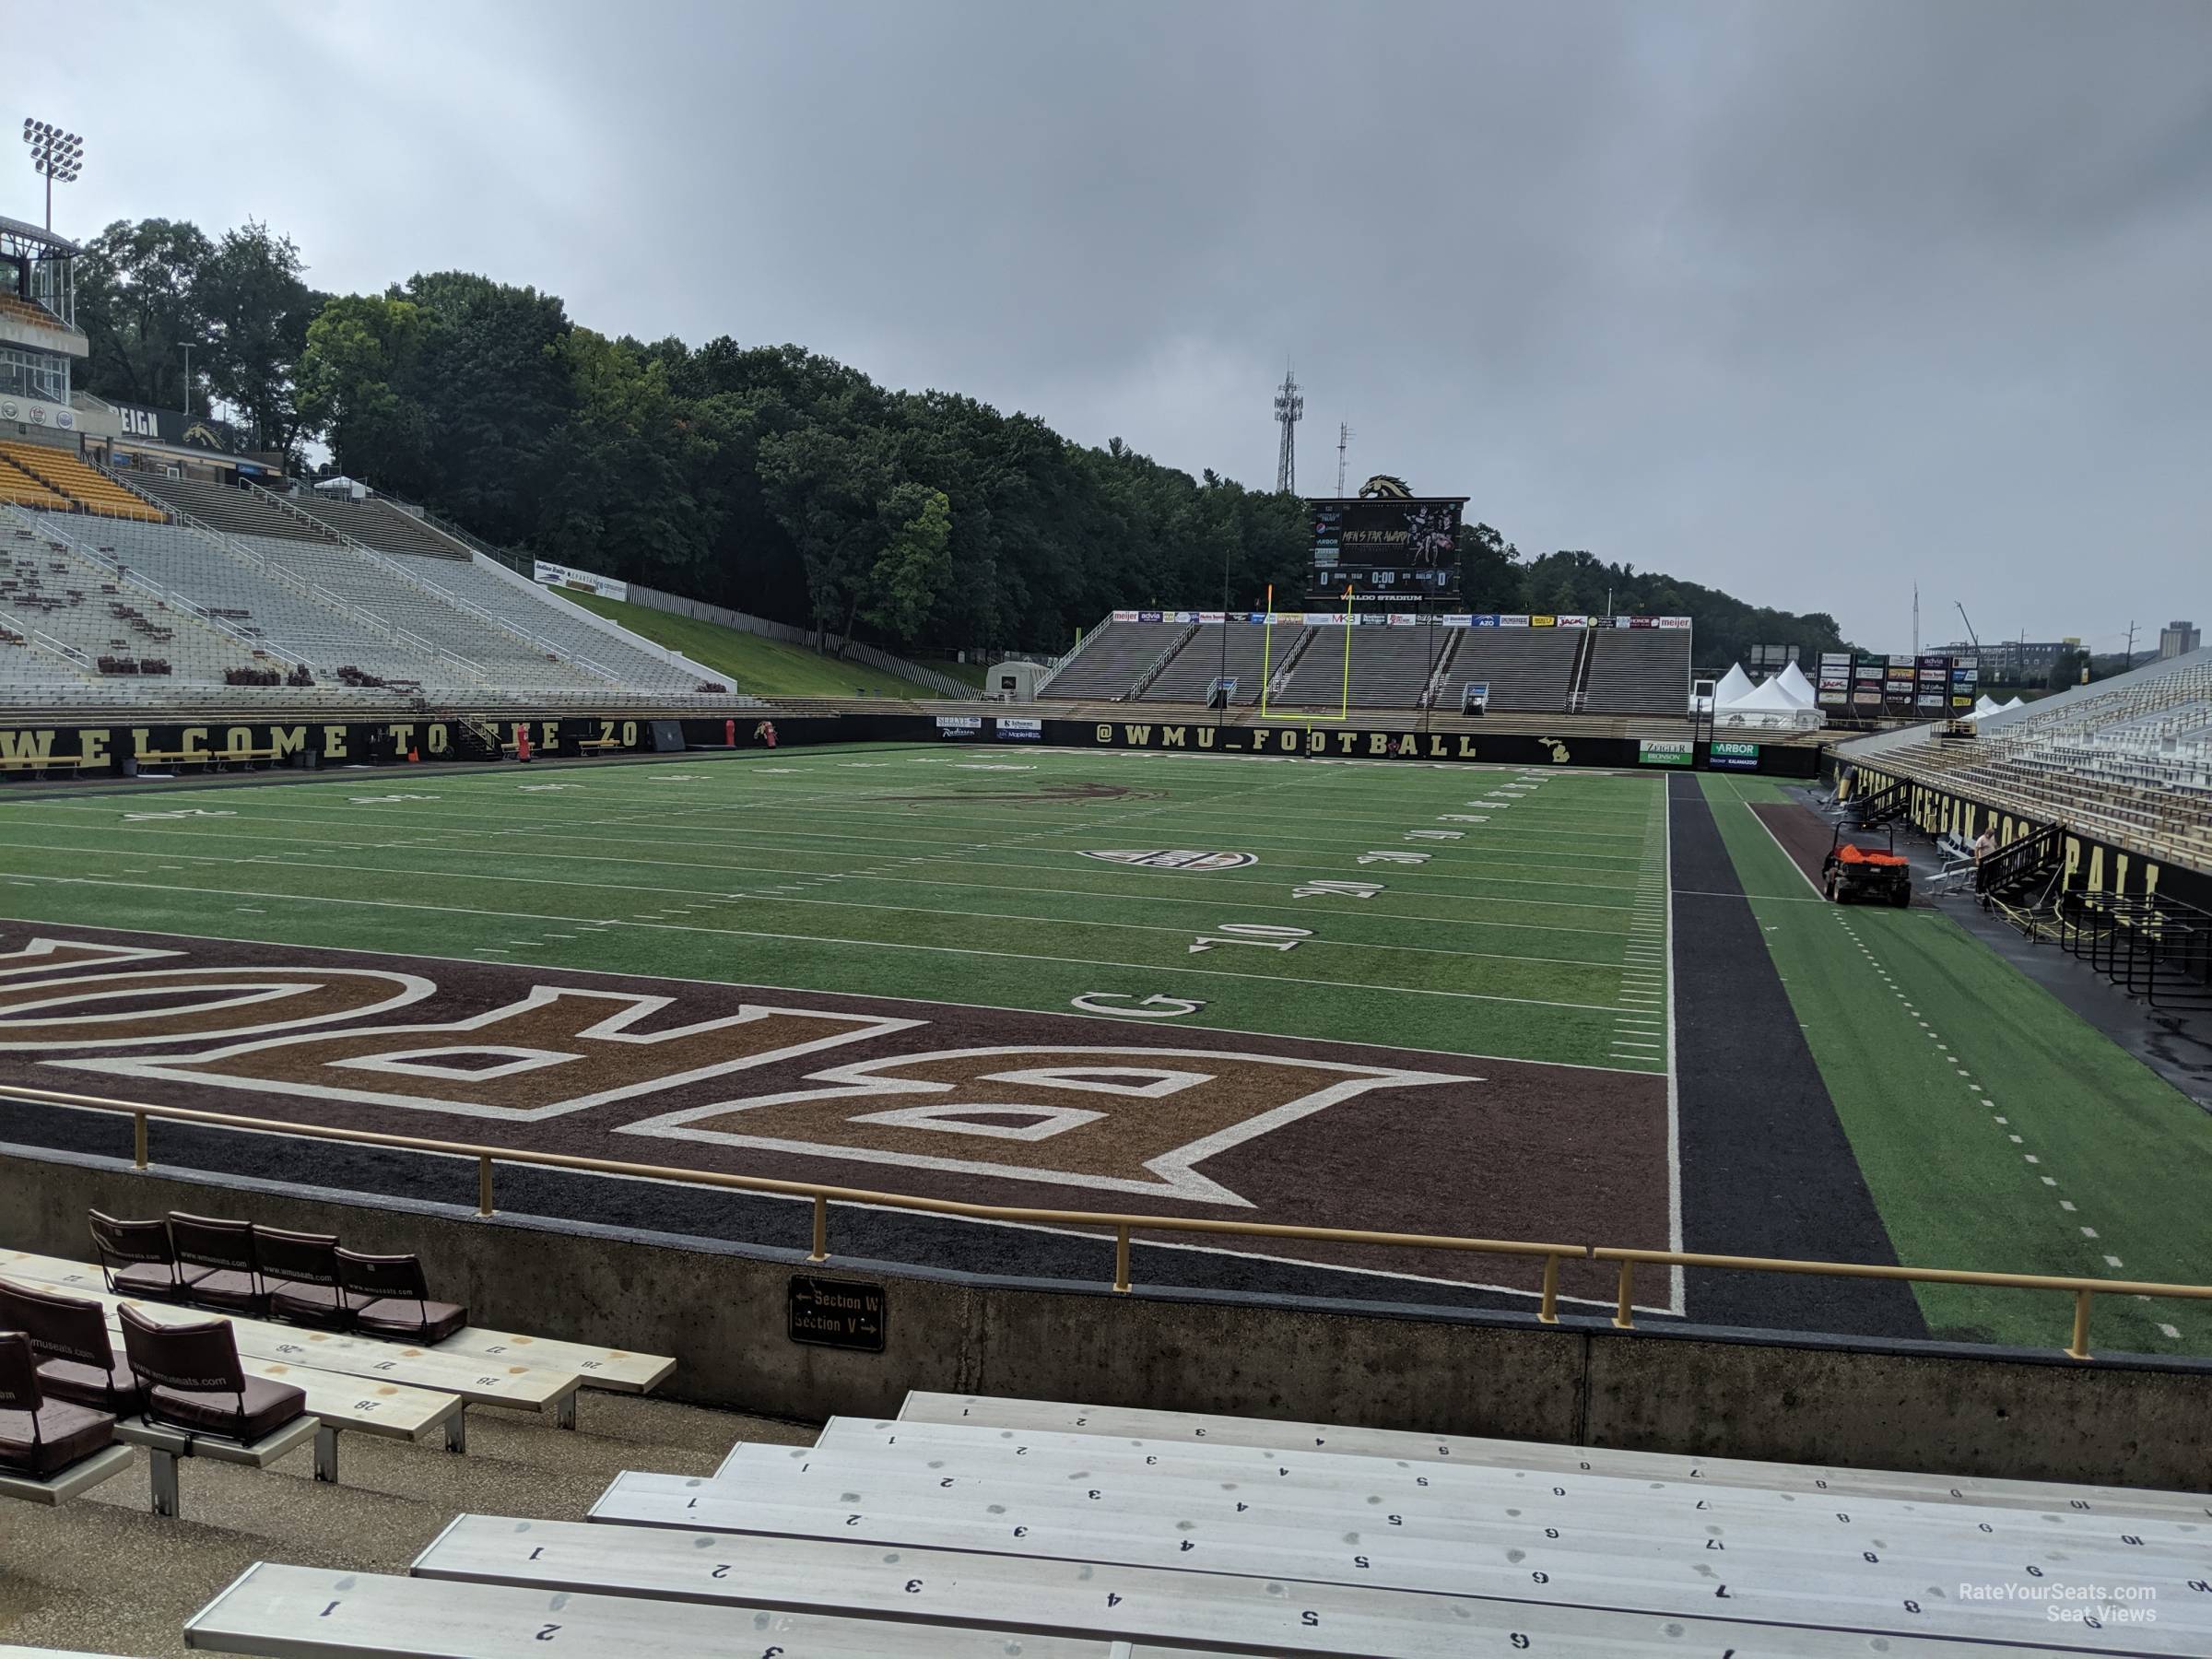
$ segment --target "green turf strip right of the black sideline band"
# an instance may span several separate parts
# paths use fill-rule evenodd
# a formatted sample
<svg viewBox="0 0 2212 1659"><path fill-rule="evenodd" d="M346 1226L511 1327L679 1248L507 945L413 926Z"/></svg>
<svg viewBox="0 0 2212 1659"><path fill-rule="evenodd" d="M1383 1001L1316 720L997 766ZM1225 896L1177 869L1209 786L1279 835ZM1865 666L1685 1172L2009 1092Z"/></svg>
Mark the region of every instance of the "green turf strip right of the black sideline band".
<svg viewBox="0 0 2212 1659"><path fill-rule="evenodd" d="M1778 785L1703 785L1900 1261L2212 1279L2212 1119L1942 911L1820 902L1750 812ZM1938 1334L2035 1347L2073 1314L2053 1292L1918 1296ZM2104 1296L2090 1336L2205 1354L2212 1305Z"/></svg>

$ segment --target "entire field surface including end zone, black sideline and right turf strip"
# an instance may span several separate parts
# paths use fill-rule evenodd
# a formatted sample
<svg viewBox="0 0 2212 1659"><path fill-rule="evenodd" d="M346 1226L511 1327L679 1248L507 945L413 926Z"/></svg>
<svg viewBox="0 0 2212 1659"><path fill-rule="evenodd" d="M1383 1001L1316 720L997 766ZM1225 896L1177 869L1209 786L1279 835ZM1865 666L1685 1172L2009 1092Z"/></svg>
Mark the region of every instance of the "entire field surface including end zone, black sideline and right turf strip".
<svg viewBox="0 0 2212 1659"><path fill-rule="evenodd" d="M0 796L0 1079L1082 1214L2212 1279L2212 1119L1951 916L1820 902L1825 825L1772 781L953 741L294 776ZM0 1137L113 1152L38 1110ZM805 1241L803 1201L515 1190ZM1084 1228L865 1210L841 1254L1102 1270ZM1436 1248L1139 1254L1263 1294L1537 1287ZM1750 1274L1637 1301L2037 1347L2068 1316ZM2097 1332L2212 1352L2199 1310L2099 1298Z"/></svg>

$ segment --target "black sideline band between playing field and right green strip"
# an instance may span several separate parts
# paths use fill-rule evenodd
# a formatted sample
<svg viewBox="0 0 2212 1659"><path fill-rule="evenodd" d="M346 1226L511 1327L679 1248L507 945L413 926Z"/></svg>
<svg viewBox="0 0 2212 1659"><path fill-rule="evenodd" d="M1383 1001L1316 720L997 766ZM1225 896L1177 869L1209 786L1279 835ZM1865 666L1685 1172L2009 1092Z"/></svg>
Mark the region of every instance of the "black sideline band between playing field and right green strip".
<svg viewBox="0 0 2212 1659"><path fill-rule="evenodd" d="M1898 1259L1694 776L1668 779L1683 1248ZM1690 1274L1701 1325L1927 1336L1902 1283Z"/></svg>

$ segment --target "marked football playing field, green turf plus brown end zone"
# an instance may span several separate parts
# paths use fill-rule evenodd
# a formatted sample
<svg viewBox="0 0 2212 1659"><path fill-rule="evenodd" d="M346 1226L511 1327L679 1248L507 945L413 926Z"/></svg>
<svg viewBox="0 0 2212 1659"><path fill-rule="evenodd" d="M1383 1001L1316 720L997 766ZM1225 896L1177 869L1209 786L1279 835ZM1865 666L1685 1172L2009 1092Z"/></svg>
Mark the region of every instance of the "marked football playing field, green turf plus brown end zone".
<svg viewBox="0 0 2212 1659"><path fill-rule="evenodd" d="M1657 776L953 743L0 801L0 1073L973 1203L1668 1248L1666 825ZM874 1248L1060 1272L900 1223ZM1155 1254L1316 1294L1522 1303L1540 1272ZM1562 1283L1595 1307L1610 1276Z"/></svg>

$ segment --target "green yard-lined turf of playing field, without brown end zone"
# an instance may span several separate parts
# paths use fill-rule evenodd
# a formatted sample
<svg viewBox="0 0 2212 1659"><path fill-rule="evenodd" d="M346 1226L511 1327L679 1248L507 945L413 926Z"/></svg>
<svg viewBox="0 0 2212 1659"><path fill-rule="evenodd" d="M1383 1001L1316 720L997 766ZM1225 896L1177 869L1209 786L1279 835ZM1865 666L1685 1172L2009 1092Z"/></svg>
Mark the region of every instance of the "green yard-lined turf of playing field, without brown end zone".
<svg viewBox="0 0 2212 1659"><path fill-rule="evenodd" d="M1133 794L993 799L1084 783ZM1663 907L1659 779L1482 803L1520 783L1006 745L363 772L0 803L0 909L1013 1009L1188 998L1192 1026L1661 1071L1663 982L1630 964ZM1259 863L1082 856L1155 847ZM1294 891L1314 880L1380 891Z"/></svg>

